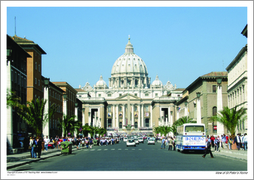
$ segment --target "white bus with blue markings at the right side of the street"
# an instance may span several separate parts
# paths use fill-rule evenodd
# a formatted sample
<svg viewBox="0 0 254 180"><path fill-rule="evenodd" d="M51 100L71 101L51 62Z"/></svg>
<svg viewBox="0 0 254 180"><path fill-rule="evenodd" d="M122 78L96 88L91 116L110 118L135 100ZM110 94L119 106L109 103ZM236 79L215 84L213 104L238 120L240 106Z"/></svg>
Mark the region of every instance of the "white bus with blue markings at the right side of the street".
<svg viewBox="0 0 254 180"><path fill-rule="evenodd" d="M188 123L178 126L175 145L178 151L205 150L205 125Z"/></svg>

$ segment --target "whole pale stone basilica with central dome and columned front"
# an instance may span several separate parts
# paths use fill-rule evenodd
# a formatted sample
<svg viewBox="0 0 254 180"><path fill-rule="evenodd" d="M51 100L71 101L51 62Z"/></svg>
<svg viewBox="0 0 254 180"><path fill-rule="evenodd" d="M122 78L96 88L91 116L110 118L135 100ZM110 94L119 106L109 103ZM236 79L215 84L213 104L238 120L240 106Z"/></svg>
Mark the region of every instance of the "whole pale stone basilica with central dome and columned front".
<svg viewBox="0 0 254 180"><path fill-rule="evenodd" d="M153 128L171 126L179 118L176 102L184 89L169 81L163 85L158 75L151 83L148 69L134 53L128 39L125 52L113 64L109 84L100 76L91 86L76 89L82 102L82 124L106 128L111 133L152 134Z"/></svg>

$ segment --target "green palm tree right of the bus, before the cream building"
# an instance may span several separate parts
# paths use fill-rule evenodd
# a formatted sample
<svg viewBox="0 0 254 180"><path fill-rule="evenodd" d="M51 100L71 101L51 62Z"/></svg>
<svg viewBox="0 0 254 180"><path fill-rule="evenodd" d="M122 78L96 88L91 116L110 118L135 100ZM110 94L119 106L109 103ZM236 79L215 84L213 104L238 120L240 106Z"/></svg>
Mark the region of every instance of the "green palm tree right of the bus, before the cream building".
<svg viewBox="0 0 254 180"><path fill-rule="evenodd" d="M217 116L213 116L213 121L218 121L224 124L230 131L232 136L235 136L235 129L240 120L245 121L247 119L247 111L245 108L240 108L236 110L237 107L229 109L228 107L223 107L222 111L219 111Z"/></svg>

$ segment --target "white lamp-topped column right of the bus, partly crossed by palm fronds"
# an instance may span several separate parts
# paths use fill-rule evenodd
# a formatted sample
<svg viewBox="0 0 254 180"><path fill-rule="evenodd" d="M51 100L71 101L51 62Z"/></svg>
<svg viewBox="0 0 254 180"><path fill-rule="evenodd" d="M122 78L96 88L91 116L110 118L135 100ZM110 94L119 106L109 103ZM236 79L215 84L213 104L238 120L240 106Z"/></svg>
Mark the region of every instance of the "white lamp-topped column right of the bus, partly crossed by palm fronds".
<svg viewBox="0 0 254 180"><path fill-rule="evenodd" d="M217 79L217 115L221 116L220 111L223 110L222 107L222 87L221 87L222 79ZM217 135L224 134L224 125L217 121Z"/></svg>

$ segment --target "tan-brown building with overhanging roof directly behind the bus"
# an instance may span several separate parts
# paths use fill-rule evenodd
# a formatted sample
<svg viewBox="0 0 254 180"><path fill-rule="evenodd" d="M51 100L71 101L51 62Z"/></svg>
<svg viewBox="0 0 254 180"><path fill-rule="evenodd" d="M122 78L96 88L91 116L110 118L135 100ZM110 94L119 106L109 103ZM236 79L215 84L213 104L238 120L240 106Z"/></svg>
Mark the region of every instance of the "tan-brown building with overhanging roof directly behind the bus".
<svg viewBox="0 0 254 180"><path fill-rule="evenodd" d="M227 132L224 126L211 121L212 116L227 106L227 77L227 72L211 72L192 82L176 103L180 117L189 116L197 123L204 123L210 135Z"/></svg>

